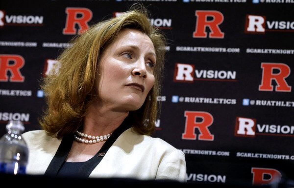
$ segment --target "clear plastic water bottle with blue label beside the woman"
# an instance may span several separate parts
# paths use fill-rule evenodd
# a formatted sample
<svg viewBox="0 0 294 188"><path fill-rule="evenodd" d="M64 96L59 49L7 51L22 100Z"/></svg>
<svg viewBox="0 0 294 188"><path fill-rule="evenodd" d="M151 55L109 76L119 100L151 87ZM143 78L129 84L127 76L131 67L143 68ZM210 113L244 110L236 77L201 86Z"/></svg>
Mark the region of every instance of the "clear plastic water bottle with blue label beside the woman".
<svg viewBox="0 0 294 188"><path fill-rule="evenodd" d="M0 139L0 173L25 174L29 150L21 137L24 125L11 120L6 129L7 134Z"/></svg>

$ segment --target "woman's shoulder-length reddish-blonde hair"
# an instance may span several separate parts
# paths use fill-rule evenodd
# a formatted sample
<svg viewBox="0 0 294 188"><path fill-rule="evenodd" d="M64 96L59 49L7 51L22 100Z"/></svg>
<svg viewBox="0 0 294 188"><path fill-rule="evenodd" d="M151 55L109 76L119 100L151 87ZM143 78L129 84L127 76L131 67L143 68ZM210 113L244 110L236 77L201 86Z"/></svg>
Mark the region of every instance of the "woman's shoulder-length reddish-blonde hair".
<svg viewBox="0 0 294 188"><path fill-rule="evenodd" d="M143 6L122 13L116 18L101 21L71 40L73 44L57 58L58 71L51 72L41 88L46 93L46 109L39 119L41 127L52 137L74 133L83 124L89 104L97 100L95 80L99 79L99 61L105 49L124 28L131 28L148 35L156 51L155 83L142 107L130 111L128 123L139 134L154 132L158 112L157 96L163 71L166 40L148 20ZM55 70L57 70L57 67ZM98 80L99 81L99 80Z"/></svg>

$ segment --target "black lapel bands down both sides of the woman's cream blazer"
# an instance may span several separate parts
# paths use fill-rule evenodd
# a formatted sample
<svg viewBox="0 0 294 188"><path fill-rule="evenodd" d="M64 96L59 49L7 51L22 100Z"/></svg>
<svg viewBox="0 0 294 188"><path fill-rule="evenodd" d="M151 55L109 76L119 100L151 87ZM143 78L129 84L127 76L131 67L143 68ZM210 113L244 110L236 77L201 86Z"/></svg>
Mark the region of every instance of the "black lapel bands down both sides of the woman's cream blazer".
<svg viewBox="0 0 294 188"><path fill-rule="evenodd" d="M91 174L91 172L96 168L96 166L103 159L104 155L107 153L108 149L113 145L118 136L120 136L124 131L131 128L132 126L126 123L126 120L122 122L122 124L111 134L109 139L103 144L102 148L94 155L91 159L87 160L81 168L77 171L79 177L87 178ZM71 149L72 143L74 140L74 135L64 136L59 145L59 148L51 160L46 172L44 175L56 176L58 174L59 169L62 164L66 160L67 155ZM74 169L73 169L74 170Z"/></svg>

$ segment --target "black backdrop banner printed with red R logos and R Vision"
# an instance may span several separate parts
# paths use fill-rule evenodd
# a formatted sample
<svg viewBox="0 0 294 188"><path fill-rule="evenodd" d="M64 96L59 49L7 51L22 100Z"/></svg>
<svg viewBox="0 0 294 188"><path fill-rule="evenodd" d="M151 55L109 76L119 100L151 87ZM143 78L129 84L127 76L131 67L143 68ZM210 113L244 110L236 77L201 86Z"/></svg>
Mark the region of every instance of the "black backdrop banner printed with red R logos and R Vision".
<svg viewBox="0 0 294 188"><path fill-rule="evenodd" d="M186 155L189 182L294 179L294 0L146 0L167 37L153 137ZM0 133L40 129L39 84L69 40L134 1L1 1Z"/></svg>

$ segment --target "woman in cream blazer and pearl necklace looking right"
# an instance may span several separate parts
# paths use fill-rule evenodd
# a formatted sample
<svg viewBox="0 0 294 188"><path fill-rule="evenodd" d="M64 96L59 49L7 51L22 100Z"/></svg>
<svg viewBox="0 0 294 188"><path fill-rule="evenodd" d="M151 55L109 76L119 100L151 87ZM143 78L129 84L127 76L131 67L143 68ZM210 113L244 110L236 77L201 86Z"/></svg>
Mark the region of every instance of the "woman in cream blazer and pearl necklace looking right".
<svg viewBox="0 0 294 188"><path fill-rule="evenodd" d="M72 43L44 81L44 130L23 134L27 172L186 181L183 152L148 136L165 40L146 9L98 23Z"/></svg>

